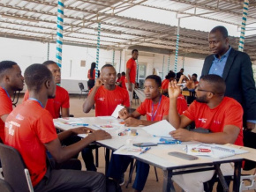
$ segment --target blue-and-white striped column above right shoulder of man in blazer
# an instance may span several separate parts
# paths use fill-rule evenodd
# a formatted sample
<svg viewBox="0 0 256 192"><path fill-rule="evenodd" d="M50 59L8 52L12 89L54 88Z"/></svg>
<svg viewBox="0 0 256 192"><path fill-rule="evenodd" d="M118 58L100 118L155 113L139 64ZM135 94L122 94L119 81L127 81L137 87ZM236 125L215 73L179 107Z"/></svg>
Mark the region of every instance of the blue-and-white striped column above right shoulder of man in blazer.
<svg viewBox="0 0 256 192"><path fill-rule="evenodd" d="M239 51L244 51L244 45L245 45L245 26L246 26L246 20L247 20L247 12L249 7L249 0L245 0L244 2L244 8L243 8L243 18L242 18L242 26L241 26L241 33L239 38Z"/></svg>

